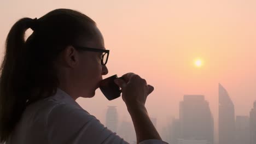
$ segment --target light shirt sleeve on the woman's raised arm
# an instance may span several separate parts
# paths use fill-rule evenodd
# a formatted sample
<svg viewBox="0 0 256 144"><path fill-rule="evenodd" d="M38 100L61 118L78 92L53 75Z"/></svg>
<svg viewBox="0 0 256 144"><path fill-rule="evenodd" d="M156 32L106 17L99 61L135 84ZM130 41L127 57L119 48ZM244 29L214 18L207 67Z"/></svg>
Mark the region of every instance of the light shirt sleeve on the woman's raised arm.
<svg viewBox="0 0 256 144"><path fill-rule="evenodd" d="M128 143L104 127L96 117L68 104L55 106L49 112L45 125L49 143ZM140 144L160 144L161 142L160 140L146 140Z"/></svg>

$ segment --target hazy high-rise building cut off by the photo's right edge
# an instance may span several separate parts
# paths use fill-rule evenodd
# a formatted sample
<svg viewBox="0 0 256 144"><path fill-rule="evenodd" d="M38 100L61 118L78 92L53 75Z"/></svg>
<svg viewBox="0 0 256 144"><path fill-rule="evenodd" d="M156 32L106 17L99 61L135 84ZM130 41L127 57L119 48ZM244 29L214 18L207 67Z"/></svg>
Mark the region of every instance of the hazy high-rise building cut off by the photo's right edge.
<svg viewBox="0 0 256 144"><path fill-rule="evenodd" d="M250 112L250 142L256 143L256 101L254 101L253 109Z"/></svg>

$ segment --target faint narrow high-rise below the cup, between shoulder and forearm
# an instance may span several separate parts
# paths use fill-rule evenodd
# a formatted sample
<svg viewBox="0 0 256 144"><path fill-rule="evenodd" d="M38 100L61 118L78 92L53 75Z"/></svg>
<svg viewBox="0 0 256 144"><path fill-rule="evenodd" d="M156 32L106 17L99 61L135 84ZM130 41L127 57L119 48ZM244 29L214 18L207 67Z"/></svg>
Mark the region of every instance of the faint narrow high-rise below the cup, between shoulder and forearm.
<svg viewBox="0 0 256 144"><path fill-rule="evenodd" d="M106 127L113 132L117 132L118 113L116 106L108 106L106 113Z"/></svg>

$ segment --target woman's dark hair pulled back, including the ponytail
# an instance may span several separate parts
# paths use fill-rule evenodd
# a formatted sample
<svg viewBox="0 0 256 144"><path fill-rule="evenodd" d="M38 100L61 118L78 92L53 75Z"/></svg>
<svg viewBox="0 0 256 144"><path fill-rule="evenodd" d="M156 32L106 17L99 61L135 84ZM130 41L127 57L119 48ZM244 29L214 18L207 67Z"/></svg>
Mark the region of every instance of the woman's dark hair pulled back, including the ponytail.
<svg viewBox="0 0 256 144"><path fill-rule="evenodd" d="M0 142L8 140L28 104L56 93L54 60L80 37L93 39L94 26L78 11L56 9L38 20L20 19L11 27L0 69ZM28 28L34 32L25 41Z"/></svg>

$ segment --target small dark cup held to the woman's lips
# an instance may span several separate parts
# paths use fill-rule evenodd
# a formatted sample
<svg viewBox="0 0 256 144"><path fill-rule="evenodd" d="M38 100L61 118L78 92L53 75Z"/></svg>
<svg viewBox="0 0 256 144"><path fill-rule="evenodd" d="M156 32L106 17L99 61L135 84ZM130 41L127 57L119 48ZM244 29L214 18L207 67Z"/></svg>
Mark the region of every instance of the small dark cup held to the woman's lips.
<svg viewBox="0 0 256 144"><path fill-rule="evenodd" d="M117 75L113 75L107 77L106 79L100 82L101 92L105 95L108 100L113 100L121 96L120 87L115 84L115 79L124 79L123 77L117 77Z"/></svg>

